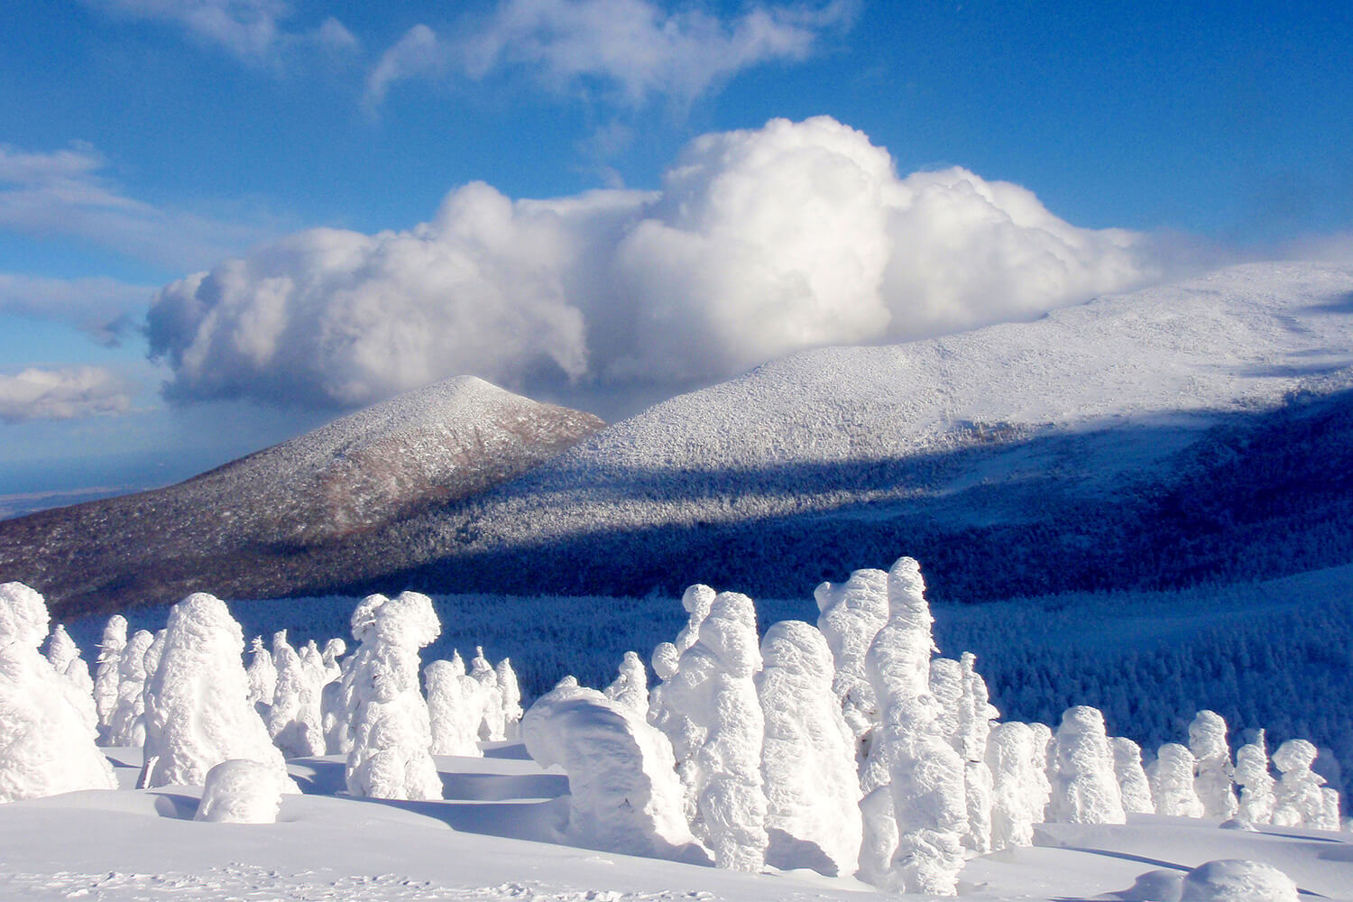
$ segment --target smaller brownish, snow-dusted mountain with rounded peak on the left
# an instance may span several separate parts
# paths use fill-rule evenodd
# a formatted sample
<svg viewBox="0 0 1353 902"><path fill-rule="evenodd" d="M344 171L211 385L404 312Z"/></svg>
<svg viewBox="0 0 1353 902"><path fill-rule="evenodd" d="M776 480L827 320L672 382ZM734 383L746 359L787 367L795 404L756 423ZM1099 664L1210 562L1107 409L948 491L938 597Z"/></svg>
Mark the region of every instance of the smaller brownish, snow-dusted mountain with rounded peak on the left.
<svg viewBox="0 0 1353 902"><path fill-rule="evenodd" d="M538 465L602 422L452 379L177 485L0 522L0 572L85 610L313 586L326 549Z"/></svg>

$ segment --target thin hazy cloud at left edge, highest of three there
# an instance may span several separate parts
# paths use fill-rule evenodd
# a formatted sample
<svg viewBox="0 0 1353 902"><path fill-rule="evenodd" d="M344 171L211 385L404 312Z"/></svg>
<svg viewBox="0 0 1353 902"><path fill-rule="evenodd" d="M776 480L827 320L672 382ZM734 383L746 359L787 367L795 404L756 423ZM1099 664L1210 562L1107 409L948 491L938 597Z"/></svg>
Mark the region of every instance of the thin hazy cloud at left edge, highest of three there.
<svg viewBox="0 0 1353 902"><path fill-rule="evenodd" d="M203 266L271 234L129 197L85 143L53 151L0 145L0 230L66 235L175 269Z"/></svg>

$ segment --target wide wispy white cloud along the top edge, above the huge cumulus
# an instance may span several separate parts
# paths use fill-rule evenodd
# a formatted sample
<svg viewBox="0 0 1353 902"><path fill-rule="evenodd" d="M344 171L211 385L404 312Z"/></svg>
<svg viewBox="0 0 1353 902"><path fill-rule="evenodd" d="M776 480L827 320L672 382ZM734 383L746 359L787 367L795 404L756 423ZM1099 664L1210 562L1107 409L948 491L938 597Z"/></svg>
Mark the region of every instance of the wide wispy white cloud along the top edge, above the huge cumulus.
<svg viewBox="0 0 1353 902"><path fill-rule="evenodd" d="M752 4L725 19L656 0L502 0L460 37L410 28L372 70L367 100L379 103L398 81L459 69L472 78L526 72L556 91L595 85L628 104L653 96L689 103L744 69L804 60L824 31L850 26L856 5Z"/></svg>

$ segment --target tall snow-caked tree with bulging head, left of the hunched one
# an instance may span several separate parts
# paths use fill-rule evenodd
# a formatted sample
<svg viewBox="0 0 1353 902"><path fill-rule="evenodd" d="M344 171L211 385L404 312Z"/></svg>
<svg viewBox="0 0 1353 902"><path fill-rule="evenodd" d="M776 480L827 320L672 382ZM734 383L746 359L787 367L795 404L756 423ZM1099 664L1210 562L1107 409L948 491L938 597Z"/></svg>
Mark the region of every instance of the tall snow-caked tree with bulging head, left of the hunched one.
<svg viewBox="0 0 1353 902"><path fill-rule="evenodd" d="M432 599L419 592L400 592L372 614L372 623L361 630L353 671L348 791L383 799L440 799L428 703L418 687L418 649L437 638L441 622Z"/></svg>

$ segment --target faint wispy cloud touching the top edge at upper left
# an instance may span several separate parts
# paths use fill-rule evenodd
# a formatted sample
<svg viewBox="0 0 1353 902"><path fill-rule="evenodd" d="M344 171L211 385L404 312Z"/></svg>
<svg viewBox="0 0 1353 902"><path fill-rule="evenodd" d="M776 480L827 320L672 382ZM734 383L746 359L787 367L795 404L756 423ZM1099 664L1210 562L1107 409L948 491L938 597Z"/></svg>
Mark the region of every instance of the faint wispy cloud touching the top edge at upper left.
<svg viewBox="0 0 1353 902"><path fill-rule="evenodd" d="M310 31L288 30L291 4L283 0L84 0L104 12L165 22L192 38L254 64L277 64L296 49L348 51L357 39L333 16Z"/></svg>

